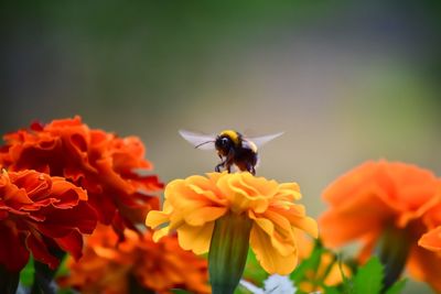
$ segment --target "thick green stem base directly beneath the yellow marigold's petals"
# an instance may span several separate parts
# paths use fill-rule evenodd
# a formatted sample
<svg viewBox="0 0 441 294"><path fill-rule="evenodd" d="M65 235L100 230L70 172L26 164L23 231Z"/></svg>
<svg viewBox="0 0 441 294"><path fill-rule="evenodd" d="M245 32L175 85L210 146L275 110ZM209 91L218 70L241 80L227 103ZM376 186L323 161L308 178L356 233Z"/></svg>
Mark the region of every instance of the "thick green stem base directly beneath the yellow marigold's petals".
<svg viewBox="0 0 441 294"><path fill-rule="evenodd" d="M208 252L208 272L213 294L233 294L247 261L252 221L229 213L214 225Z"/></svg>

